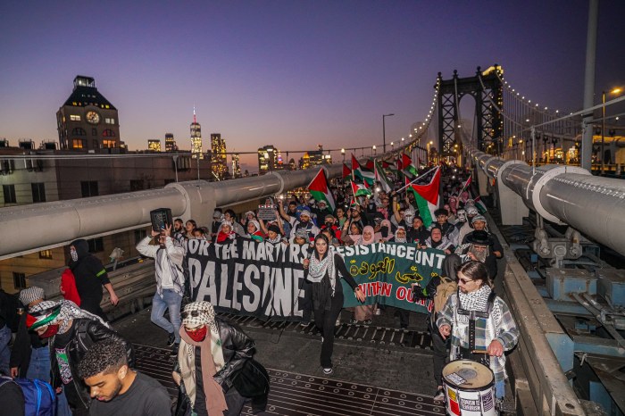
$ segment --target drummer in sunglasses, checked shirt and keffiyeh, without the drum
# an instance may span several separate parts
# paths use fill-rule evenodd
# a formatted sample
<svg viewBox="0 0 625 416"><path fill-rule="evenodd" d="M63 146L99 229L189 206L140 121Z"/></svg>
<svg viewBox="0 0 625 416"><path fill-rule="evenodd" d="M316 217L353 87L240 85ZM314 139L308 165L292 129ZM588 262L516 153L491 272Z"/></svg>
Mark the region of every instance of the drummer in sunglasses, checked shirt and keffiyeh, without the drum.
<svg viewBox="0 0 625 416"><path fill-rule="evenodd" d="M508 305L492 291L482 262L465 262L457 272L458 293L449 296L438 314L441 337L451 335L450 360L472 360L490 367L498 401L505 395L505 351L519 338Z"/></svg>

